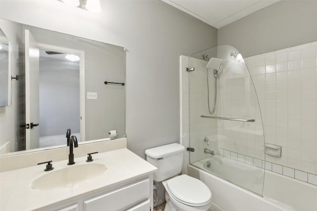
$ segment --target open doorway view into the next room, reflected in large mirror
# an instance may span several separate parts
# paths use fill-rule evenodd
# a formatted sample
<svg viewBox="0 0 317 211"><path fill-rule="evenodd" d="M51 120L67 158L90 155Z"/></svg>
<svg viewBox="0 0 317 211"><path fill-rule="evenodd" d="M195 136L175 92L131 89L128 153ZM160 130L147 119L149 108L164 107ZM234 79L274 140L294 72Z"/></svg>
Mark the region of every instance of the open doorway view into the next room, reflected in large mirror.
<svg viewBox="0 0 317 211"><path fill-rule="evenodd" d="M68 127L80 141L80 57L48 49L40 49L39 55L39 147L65 144ZM60 106L65 100L71 103Z"/></svg>

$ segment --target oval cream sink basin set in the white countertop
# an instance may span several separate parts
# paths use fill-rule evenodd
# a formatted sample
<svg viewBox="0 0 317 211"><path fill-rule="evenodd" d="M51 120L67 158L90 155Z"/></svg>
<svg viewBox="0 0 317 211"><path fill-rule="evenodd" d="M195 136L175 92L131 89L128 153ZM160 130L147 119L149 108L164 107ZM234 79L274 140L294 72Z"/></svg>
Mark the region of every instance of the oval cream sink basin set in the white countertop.
<svg viewBox="0 0 317 211"><path fill-rule="evenodd" d="M68 188L76 184L93 179L106 171L103 164L81 164L69 166L64 169L53 169L32 182L32 189L52 190Z"/></svg>

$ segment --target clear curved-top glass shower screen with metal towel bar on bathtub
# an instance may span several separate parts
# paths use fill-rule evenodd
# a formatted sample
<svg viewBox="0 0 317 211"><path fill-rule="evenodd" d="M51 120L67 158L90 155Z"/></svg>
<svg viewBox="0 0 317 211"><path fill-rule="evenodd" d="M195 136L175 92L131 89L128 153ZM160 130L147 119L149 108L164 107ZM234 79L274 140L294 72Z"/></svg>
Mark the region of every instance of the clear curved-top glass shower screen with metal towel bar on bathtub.
<svg viewBox="0 0 317 211"><path fill-rule="evenodd" d="M262 195L264 130L255 87L237 49L189 57L190 163ZM192 70L192 69L191 69Z"/></svg>

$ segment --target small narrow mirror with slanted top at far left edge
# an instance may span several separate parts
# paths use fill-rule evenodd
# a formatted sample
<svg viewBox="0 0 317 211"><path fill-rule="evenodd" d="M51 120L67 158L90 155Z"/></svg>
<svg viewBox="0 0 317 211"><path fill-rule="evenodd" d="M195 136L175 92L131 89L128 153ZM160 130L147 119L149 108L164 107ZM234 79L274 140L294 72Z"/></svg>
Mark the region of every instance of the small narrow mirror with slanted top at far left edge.
<svg viewBox="0 0 317 211"><path fill-rule="evenodd" d="M9 41L0 28L0 106L11 105Z"/></svg>

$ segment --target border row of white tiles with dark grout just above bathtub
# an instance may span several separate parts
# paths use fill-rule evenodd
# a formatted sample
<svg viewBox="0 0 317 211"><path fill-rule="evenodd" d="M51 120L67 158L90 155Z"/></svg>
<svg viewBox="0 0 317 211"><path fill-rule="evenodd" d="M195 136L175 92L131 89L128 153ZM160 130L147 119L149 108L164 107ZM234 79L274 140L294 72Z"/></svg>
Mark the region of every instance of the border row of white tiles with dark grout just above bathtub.
<svg viewBox="0 0 317 211"><path fill-rule="evenodd" d="M262 169L266 169L269 171L273 171L275 173L282 174L284 176L289 176L289 177L292 177L294 179L298 179L298 180L308 182L308 183L313 184L313 185L317 185L317 175L316 174L311 174L311 173L301 171L298 169L288 168L285 166L281 166L278 164L259 160L257 158L252 158L252 157L241 155L241 154L237 154L239 159L235 159L235 157L231 156L232 154L236 154L235 152L230 152L230 151L224 150L224 149L219 149L218 153L219 153L219 155L222 155L224 157L238 160L240 162L250 164L252 166L256 166L256 167L259 167Z"/></svg>

